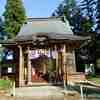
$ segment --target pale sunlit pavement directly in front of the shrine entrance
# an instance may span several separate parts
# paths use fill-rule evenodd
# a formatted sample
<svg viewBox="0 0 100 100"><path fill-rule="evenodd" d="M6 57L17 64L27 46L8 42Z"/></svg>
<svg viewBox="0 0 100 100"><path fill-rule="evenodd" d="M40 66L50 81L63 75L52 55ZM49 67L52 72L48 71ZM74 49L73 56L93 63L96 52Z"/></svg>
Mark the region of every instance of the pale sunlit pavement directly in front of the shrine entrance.
<svg viewBox="0 0 100 100"><path fill-rule="evenodd" d="M20 87L16 88L15 96L48 96L58 95L62 96L60 87L54 86L34 86L34 87Z"/></svg>

